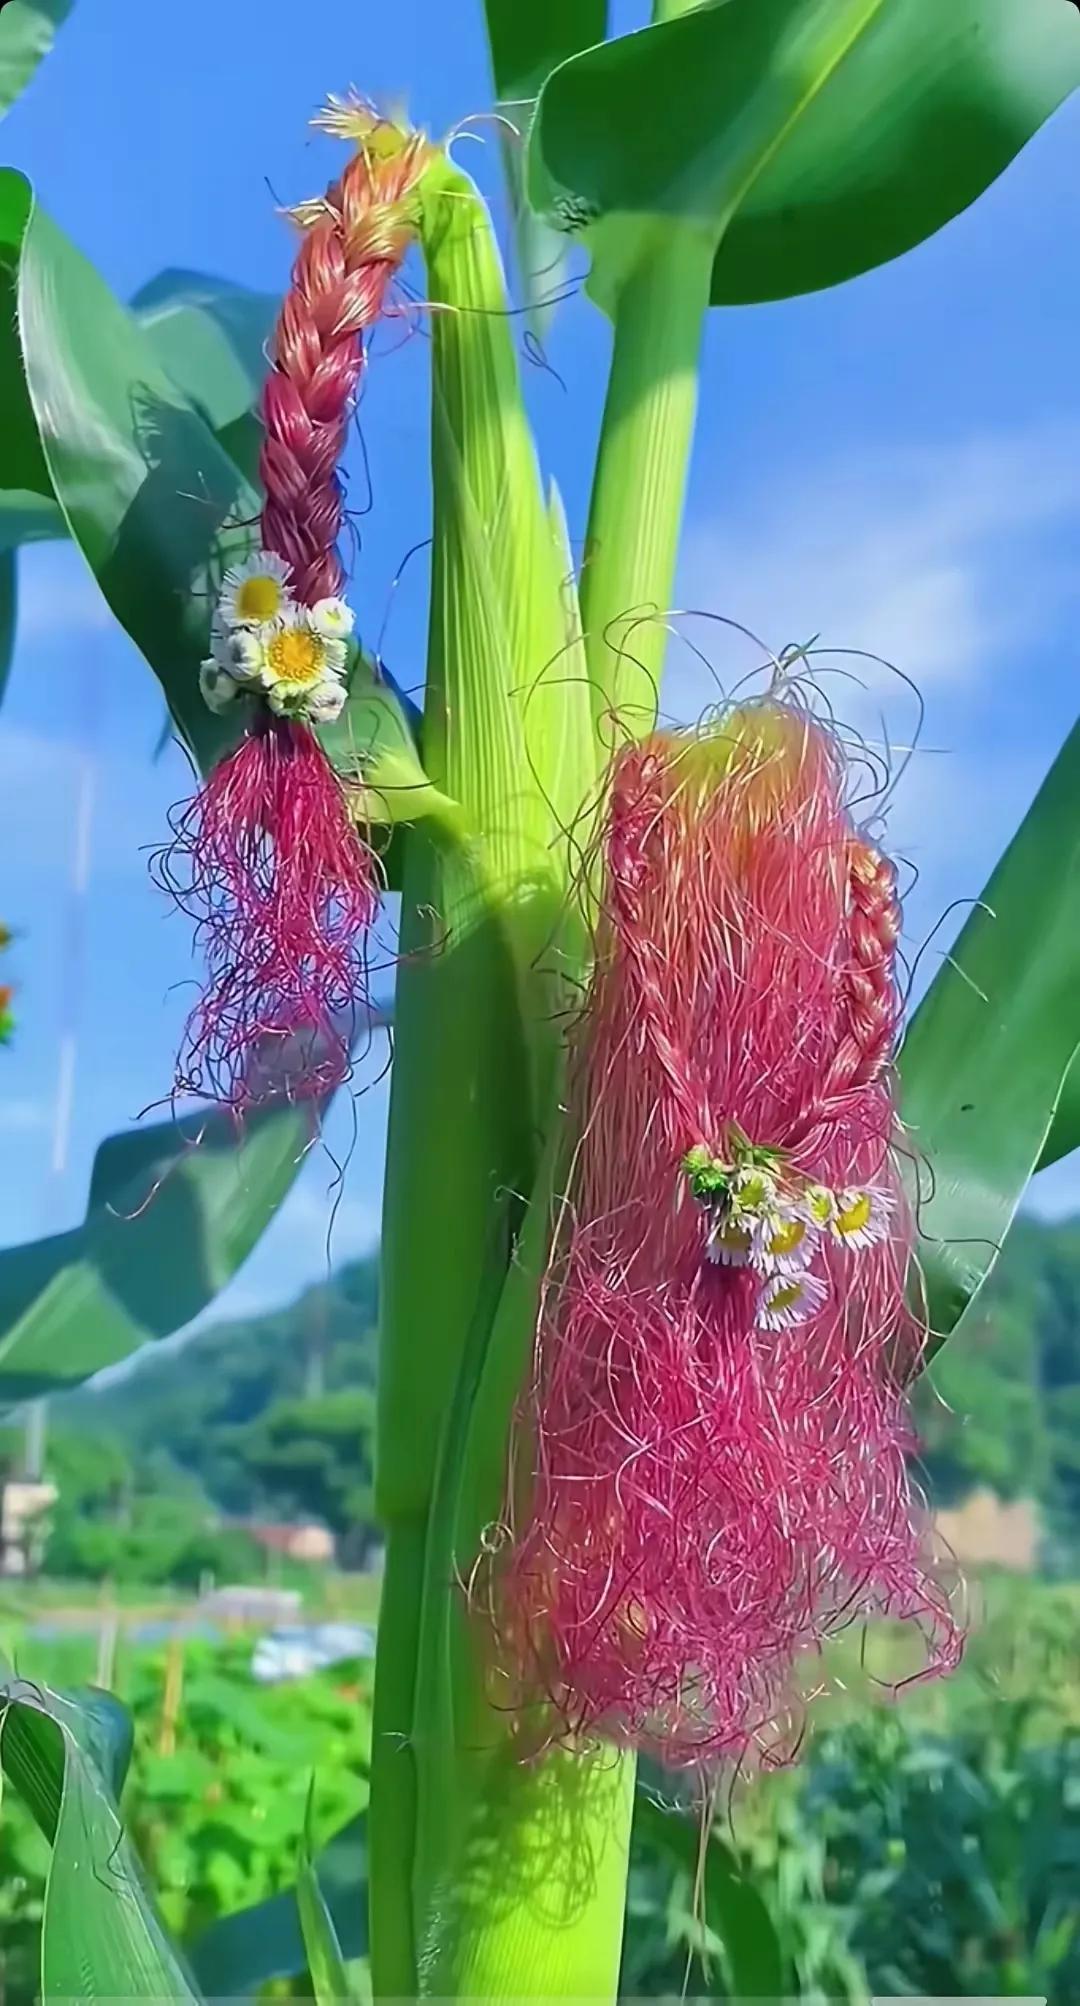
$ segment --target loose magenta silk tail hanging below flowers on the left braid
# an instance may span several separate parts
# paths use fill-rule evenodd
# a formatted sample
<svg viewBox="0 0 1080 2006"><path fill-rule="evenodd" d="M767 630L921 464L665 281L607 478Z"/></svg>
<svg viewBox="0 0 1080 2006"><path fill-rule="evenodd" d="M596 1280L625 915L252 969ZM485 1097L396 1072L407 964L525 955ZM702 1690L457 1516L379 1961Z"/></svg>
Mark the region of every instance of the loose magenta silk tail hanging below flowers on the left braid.
<svg viewBox="0 0 1080 2006"><path fill-rule="evenodd" d="M249 732L179 812L167 877L207 959L177 1089L247 1113L337 1087L367 1009L377 877L313 732Z"/></svg>

